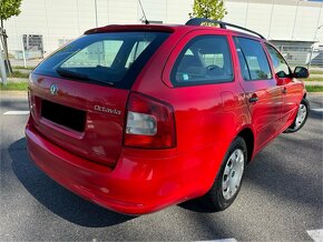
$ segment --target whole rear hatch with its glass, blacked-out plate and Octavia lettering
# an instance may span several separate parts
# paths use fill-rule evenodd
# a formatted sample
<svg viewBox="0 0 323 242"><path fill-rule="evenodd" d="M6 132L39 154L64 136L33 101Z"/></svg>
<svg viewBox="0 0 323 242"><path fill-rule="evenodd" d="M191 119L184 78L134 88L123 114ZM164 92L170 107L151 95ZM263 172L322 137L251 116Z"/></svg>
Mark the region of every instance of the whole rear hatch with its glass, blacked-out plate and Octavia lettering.
<svg viewBox="0 0 323 242"><path fill-rule="evenodd" d="M130 88L169 32L86 34L46 59L30 75L38 132L65 150L114 167L123 147Z"/></svg>

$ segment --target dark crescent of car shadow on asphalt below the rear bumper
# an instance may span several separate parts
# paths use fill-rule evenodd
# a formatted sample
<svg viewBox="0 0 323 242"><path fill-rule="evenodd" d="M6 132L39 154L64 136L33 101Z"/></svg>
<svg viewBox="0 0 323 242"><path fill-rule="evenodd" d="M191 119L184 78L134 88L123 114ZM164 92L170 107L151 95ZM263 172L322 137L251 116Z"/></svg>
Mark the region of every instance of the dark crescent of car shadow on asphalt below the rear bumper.
<svg viewBox="0 0 323 242"><path fill-rule="evenodd" d="M12 170L27 191L65 220L88 228L104 228L135 219L90 203L56 183L30 160L26 138L12 143L9 154L12 159Z"/></svg>

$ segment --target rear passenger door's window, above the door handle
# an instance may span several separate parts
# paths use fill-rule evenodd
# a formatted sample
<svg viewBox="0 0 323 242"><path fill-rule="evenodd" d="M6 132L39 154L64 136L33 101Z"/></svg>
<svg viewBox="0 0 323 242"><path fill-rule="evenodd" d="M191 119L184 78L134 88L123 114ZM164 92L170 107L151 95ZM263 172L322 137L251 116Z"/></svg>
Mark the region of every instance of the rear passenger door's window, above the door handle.
<svg viewBox="0 0 323 242"><path fill-rule="evenodd" d="M244 80L272 79L268 60L262 44L252 39L234 38Z"/></svg>

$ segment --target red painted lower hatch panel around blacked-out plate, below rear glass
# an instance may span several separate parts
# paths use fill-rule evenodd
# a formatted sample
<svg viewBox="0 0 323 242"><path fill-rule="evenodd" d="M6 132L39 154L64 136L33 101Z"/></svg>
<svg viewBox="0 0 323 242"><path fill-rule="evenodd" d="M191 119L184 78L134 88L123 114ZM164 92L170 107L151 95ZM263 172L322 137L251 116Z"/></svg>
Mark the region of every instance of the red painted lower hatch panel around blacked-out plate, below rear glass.
<svg viewBox="0 0 323 242"><path fill-rule="evenodd" d="M36 97L35 108L31 109L35 128L48 140L63 145L72 153L114 167L121 152L125 108L129 91L37 74L32 74L31 79L35 80L29 87L30 97ZM56 83L59 89L56 97L49 94L51 83ZM85 110L85 131L76 132L42 118L40 100ZM118 109L120 114L98 112L95 105Z"/></svg>

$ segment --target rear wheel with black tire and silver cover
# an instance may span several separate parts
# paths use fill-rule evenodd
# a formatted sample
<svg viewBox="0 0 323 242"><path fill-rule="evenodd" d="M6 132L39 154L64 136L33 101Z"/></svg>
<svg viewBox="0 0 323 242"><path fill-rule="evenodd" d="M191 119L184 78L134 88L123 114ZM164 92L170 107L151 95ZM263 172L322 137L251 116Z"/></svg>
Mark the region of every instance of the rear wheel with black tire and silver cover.
<svg viewBox="0 0 323 242"><path fill-rule="evenodd" d="M233 158L237 159L233 162ZM233 203L242 186L246 160L247 148L245 140L237 137L226 152L213 186L200 198L200 202L204 206L213 212L217 212L227 209ZM225 189L225 186L227 188Z"/></svg>

